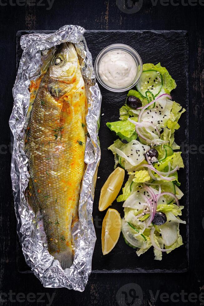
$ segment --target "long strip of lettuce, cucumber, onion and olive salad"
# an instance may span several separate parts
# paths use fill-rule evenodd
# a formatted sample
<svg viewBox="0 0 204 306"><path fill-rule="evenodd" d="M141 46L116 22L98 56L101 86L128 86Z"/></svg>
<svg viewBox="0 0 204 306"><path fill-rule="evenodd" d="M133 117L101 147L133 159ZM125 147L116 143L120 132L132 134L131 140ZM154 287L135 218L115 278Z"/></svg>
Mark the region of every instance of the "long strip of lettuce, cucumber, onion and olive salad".
<svg viewBox="0 0 204 306"><path fill-rule="evenodd" d="M166 68L144 64L143 73L120 108L119 121L107 126L119 139L108 149L129 174L118 202L124 202L122 234L138 256L153 246L155 259L182 245L179 232L183 206L179 200L178 170L183 168L180 147L174 141L185 109L172 101L176 83Z"/></svg>

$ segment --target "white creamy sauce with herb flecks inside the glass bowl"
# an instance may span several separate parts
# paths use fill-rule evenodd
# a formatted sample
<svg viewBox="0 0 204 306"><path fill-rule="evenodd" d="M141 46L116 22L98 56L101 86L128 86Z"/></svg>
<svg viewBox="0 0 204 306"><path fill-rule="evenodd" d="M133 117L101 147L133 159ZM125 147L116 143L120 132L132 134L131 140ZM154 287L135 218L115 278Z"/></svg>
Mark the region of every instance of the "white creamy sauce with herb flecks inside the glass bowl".
<svg viewBox="0 0 204 306"><path fill-rule="evenodd" d="M134 81L137 65L128 52L114 50L107 52L100 61L99 74L108 86L123 88Z"/></svg>

